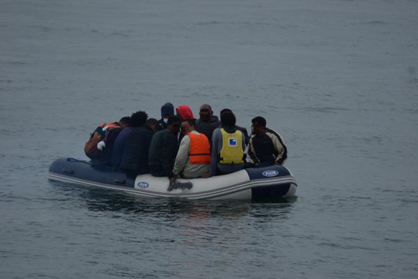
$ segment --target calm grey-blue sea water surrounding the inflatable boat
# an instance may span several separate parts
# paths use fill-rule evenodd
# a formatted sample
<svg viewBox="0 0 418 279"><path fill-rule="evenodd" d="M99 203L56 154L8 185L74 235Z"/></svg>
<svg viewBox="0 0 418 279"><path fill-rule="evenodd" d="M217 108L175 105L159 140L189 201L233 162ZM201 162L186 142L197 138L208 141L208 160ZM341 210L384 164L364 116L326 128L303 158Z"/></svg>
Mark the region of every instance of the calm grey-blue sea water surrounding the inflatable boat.
<svg viewBox="0 0 418 279"><path fill-rule="evenodd" d="M0 278L416 278L418 3L0 1ZM265 116L297 198L47 181L167 101Z"/></svg>

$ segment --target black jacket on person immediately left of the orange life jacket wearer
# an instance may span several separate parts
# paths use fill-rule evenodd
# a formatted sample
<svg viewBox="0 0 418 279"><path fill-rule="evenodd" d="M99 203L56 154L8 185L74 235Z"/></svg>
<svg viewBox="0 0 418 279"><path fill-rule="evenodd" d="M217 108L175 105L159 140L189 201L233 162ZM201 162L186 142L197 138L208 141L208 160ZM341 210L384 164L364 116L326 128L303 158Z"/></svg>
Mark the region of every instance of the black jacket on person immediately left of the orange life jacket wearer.
<svg viewBox="0 0 418 279"><path fill-rule="evenodd" d="M178 151L177 133L160 130L151 140L148 153L148 165L151 170L163 171L169 178L173 177L174 161ZM153 172L151 172L153 173Z"/></svg>

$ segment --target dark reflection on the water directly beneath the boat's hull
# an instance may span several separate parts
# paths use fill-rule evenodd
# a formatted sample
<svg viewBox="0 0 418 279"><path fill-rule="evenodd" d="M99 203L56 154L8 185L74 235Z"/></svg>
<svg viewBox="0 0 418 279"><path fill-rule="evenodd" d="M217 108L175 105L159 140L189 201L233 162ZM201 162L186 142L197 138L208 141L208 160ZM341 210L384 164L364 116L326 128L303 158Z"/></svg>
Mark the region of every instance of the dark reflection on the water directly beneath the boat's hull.
<svg viewBox="0 0 418 279"><path fill-rule="evenodd" d="M254 218L274 218L291 210L297 198L283 198L277 201L248 202L235 200L189 200L138 197L115 190L73 186L68 183L50 181L59 193L77 197L89 211L116 211L119 213L144 213L153 217L188 218L203 220L206 218L234 219L249 214Z"/></svg>

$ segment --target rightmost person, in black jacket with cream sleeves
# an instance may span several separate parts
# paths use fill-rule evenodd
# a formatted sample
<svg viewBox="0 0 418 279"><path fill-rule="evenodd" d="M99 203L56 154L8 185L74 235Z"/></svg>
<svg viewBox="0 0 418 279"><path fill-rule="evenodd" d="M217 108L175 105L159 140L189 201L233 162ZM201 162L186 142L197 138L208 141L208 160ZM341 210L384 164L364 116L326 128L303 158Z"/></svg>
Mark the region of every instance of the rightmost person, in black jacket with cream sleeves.
<svg viewBox="0 0 418 279"><path fill-rule="evenodd" d="M287 158L287 148L278 133L266 128L263 117L251 120L251 137L248 144L249 164L254 167L283 165Z"/></svg>

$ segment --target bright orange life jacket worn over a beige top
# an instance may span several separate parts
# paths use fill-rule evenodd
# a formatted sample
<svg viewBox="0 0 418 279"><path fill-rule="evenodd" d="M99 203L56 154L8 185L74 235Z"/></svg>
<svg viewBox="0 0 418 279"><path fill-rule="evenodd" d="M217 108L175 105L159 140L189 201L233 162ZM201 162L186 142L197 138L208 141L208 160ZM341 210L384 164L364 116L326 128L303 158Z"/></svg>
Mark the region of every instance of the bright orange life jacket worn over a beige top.
<svg viewBox="0 0 418 279"><path fill-rule="evenodd" d="M189 163L210 164L210 144L206 135L188 134L190 137Z"/></svg>

